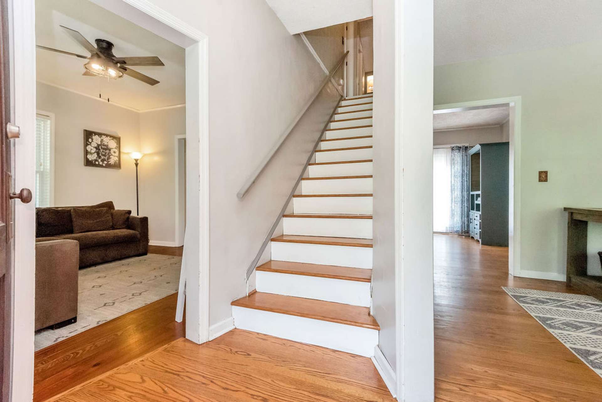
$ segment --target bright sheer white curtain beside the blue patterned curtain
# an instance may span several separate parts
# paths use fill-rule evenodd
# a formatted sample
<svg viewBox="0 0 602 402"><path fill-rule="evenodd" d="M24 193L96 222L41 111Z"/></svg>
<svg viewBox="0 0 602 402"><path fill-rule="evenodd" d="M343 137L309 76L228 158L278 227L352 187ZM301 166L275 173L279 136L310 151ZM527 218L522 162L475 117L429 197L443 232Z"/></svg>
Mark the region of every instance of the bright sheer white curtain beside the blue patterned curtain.
<svg viewBox="0 0 602 402"><path fill-rule="evenodd" d="M433 149L433 232L452 231L452 148Z"/></svg>

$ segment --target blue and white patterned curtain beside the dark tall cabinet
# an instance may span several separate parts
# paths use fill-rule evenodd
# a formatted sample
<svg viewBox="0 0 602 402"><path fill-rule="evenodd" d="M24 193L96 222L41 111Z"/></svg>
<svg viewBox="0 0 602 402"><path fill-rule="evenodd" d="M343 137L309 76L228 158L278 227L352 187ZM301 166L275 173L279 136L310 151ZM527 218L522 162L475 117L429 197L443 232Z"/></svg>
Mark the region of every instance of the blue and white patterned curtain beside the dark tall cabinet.
<svg viewBox="0 0 602 402"><path fill-rule="evenodd" d="M470 212L470 156L468 146L452 147L451 233L468 233Z"/></svg>

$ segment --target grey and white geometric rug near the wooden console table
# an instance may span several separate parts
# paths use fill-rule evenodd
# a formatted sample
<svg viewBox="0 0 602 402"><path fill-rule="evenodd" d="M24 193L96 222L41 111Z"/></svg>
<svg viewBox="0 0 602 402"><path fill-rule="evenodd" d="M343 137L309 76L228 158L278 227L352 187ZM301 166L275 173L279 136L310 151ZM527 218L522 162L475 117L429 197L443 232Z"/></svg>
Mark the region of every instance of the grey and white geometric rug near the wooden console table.
<svg viewBox="0 0 602 402"><path fill-rule="evenodd" d="M581 294L520 288L502 289L602 377L602 302L600 300Z"/></svg>

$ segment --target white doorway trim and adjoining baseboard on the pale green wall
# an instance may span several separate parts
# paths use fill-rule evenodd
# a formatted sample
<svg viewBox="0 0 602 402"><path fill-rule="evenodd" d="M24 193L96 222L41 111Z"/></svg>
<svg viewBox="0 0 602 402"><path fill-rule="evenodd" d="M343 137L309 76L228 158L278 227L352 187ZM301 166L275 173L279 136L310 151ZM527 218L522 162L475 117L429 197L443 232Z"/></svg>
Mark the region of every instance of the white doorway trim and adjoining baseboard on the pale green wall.
<svg viewBox="0 0 602 402"><path fill-rule="evenodd" d="M433 111L462 111L466 108L482 107L489 105L510 105L510 123L514 116L513 131L510 133L510 180L508 214L508 272L514 276L534 277L533 271L521 271L521 111L522 98L520 96L498 97L494 99L471 100L455 104L435 105ZM512 113L514 108L514 113ZM544 273L541 273L544 274ZM550 277L535 276L539 279ZM563 280L555 276L554 280Z"/></svg>

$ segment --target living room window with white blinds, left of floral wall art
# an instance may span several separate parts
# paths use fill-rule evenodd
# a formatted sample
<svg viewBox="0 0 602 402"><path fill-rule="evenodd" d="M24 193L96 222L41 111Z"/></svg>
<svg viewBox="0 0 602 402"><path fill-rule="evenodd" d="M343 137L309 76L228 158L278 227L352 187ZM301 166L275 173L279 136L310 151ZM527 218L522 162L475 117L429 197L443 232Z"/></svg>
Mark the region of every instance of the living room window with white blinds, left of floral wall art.
<svg viewBox="0 0 602 402"><path fill-rule="evenodd" d="M54 116L51 113L36 114L36 206L52 206L54 203Z"/></svg>

